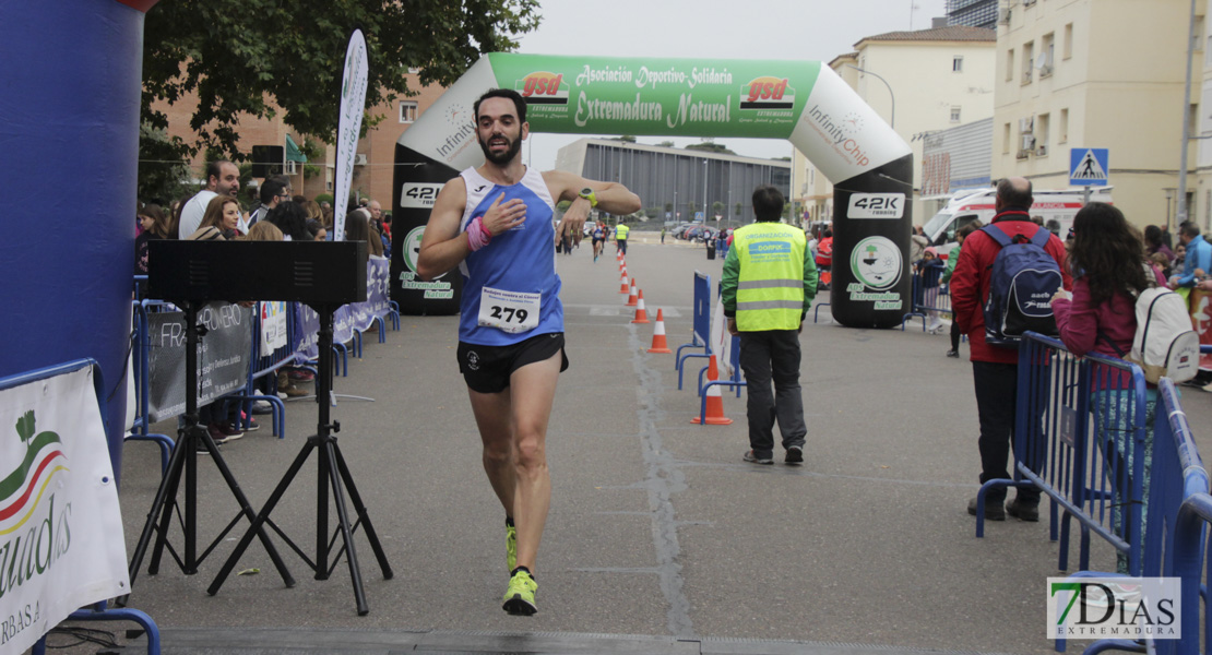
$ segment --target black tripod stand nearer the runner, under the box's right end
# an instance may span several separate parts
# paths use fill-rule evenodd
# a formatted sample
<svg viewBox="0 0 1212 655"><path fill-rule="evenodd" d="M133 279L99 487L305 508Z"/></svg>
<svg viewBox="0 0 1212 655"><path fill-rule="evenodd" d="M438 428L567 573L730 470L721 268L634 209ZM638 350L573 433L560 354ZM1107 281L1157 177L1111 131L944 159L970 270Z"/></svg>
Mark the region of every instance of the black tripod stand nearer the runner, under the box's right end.
<svg viewBox="0 0 1212 655"><path fill-rule="evenodd" d="M341 424L337 421L328 423L330 408L332 400L330 393L332 391L332 317L339 304L330 303L315 303L311 308L315 309L316 314L320 315L320 331L319 331L319 347L320 347L320 370L315 377L316 393L315 401L319 403L319 419L316 420L316 433L308 437L307 443L299 454L295 458L295 461L287 469L286 475L278 483L274 493L269 496L265 506L257 515L252 525L248 527L248 532L245 533L244 538L236 545L231 556L228 558L227 563L219 570L219 574L211 582L211 586L206 590L207 593L215 596L218 593L219 587L227 580L227 576L231 574L231 569L235 568L236 562L244 551L252 542L255 535L262 534L262 527L268 523L270 528L274 529L286 541L286 544L295 550L295 552L315 571L316 580L327 580L336 569L341 558L341 550L344 550L347 559L349 561L349 578L354 586L354 599L358 604L358 615L365 616L370 613L370 608L366 604L366 591L362 587L362 574L361 567L358 563L358 552L354 548L354 530L359 525L362 525L366 530L366 540L371 545L371 550L375 551L375 557L378 559L379 569L383 570L383 579L390 580L394 573L391 571L391 565L387 561L387 555L383 552L383 546L379 544L378 535L375 534L375 527L371 524L370 516L366 513L366 505L362 504L361 495L358 493L358 487L354 484L354 477L349 472L349 466L345 464L345 458L341 454L341 449L337 447L337 438L332 436L333 432L341 431ZM290 488L291 483L295 481L295 476L298 475L299 470L303 469L303 464L311 455L311 452L316 452L316 465L318 465L318 477L316 477L316 528L315 528L315 561L308 558L307 553L302 551L291 539L279 528L270 518L269 515L273 513L274 507L282 499L286 489ZM328 536L328 490L330 485L332 489L332 496L337 510L337 533L331 538ZM345 493L349 493L349 499L353 501L354 511L358 515L358 521L353 524L349 522L349 513L345 510ZM342 539L342 548L336 553L331 552L332 545L336 542L337 536ZM328 564L328 557L332 556L332 564Z"/></svg>

